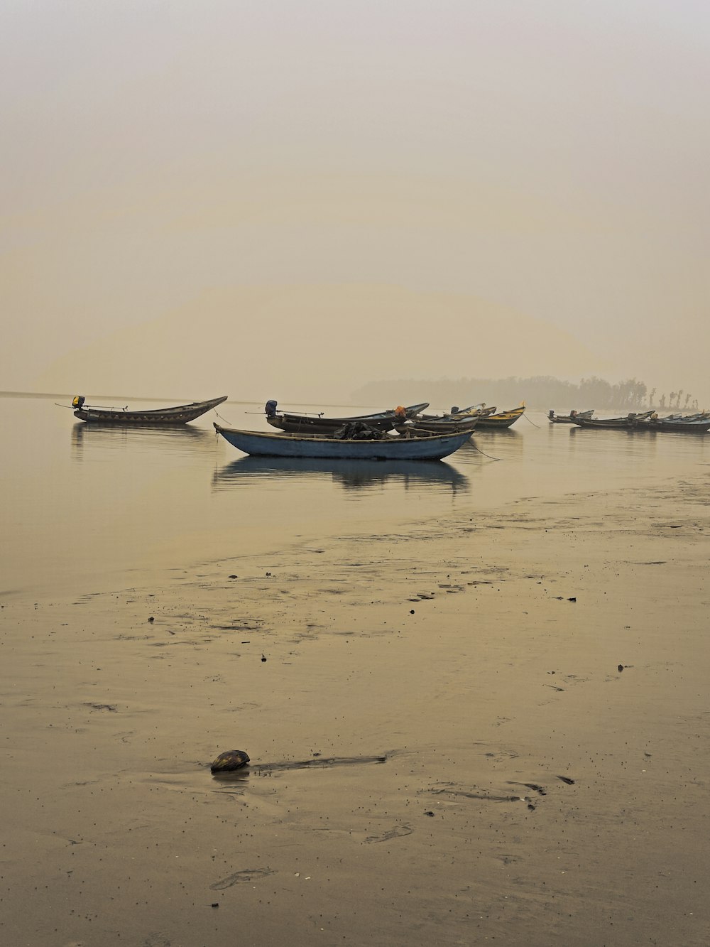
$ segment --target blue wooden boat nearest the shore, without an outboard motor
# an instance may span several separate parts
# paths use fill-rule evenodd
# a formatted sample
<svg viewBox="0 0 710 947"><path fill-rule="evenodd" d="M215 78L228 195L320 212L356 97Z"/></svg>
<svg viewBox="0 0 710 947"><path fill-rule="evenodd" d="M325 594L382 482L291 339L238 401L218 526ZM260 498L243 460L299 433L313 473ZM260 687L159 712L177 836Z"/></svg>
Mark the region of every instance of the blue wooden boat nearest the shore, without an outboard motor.
<svg viewBox="0 0 710 947"><path fill-rule="evenodd" d="M384 434L379 438L330 438L318 435L268 434L222 427L215 430L244 454L259 457L324 457L359 460L440 460L462 447L470 431L422 434L417 437Z"/></svg>

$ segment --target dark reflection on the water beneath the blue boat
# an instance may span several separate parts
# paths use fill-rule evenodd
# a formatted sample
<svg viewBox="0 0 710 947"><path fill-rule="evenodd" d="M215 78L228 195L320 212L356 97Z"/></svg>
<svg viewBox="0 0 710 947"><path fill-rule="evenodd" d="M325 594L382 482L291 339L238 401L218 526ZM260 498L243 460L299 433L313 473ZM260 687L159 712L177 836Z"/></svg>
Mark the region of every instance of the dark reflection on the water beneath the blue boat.
<svg viewBox="0 0 710 947"><path fill-rule="evenodd" d="M325 476L344 490L364 490L384 484L404 489L427 487L468 491L468 476L442 460L328 460L311 457L240 457L213 474L214 490L225 490L254 478L273 480Z"/></svg>

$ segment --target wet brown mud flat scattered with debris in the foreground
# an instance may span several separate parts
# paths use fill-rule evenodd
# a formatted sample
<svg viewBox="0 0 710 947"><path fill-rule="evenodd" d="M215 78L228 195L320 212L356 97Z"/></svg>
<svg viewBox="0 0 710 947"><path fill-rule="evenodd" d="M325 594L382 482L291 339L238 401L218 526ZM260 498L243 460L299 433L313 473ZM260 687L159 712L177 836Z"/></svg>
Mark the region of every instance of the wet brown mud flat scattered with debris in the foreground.
<svg viewBox="0 0 710 947"><path fill-rule="evenodd" d="M5 594L3 942L706 944L703 497Z"/></svg>

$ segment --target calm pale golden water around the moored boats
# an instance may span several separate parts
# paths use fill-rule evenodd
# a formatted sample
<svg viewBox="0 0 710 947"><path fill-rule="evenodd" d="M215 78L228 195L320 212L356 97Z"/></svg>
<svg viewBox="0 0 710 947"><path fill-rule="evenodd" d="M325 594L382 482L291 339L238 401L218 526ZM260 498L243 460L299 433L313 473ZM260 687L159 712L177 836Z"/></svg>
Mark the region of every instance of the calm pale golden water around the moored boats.
<svg viewBox="0 0 710 947"><path fill-rule="evenodd" d="M583 431L534 411L440 462L268 460L219 438L214 412L178 429L114 430L54 401L0 398L4 595L144 584L221 558L268 568L269 551L294 542L483 518L521 497L682 479L710 462L708 436ZM224 402L219 420L271 430L262 408Z"/></svg>

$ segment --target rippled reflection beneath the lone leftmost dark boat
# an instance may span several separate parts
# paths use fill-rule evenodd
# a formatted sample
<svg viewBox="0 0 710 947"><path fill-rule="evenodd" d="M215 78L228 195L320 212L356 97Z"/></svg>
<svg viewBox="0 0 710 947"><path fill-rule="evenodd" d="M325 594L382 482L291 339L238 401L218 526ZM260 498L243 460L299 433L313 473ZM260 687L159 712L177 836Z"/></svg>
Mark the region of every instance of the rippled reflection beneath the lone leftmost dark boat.
<svg viewBox="0 0 710 947"><path fill-rule="evenodd" d="M98 453L107 451L131 450L184 453L196 446L212 445L215 441L213 431L199 427L109 427L92 424L75 424L72 427L71 451L73 460L82 460L86 449Z"/></svg>

